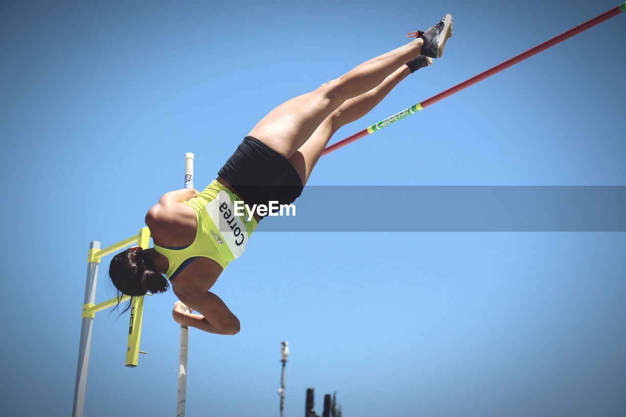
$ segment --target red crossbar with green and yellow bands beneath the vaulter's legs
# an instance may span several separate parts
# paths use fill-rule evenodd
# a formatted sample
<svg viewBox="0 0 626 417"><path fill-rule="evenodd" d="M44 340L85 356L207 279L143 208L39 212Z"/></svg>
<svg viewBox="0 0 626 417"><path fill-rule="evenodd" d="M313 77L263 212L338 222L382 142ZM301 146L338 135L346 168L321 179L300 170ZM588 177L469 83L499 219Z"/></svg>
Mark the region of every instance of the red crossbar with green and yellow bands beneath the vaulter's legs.
<svg viewBox="0 0 626 417"><path fill-rule="evenodd" d="M342 139L339 142L333 143L332 145L329 145L326 147L326 149L324 149L324 152L322 152L322 155L331 153L334 150L337 150L341 147L346 146L348 143L352 143L356 140L361 139L364 136L374 133L377 130L381 130L385 126L388 126L388 125L391 125L391 123L394 123L394 121L398 121L408 115L412 115L413 113L416 113L419 110L422 110L423 108L433 105L437 101L443 100L444 98L451 96L454 93L458 93L459 91L464 90L465 88L468 88L469 86L478 83L478 81L485 80L485 78L489 78L490 76L497 74L500 71L506 70L506 68L509 68L510 66L520 63L524 59L530 58L531 56L536 55L540 53L541 51L545 51L546 49L565 41L565 39L572 38L572 36L574 35L577 35L583 31L586 31L589 28L593 28L593 26L596 26L597 24L600 24L605 20L613 18L614 16L617 16L623 11L626 11L626 3L620 4L620 6L610 9L609 11L600 14L600 16L596 16L595 18L590 19L586 21L585 23L579 24L575 28L572 28L568 30L567 32L563 32L562 34L555 36L554 38L549 39L548 41L545 41L544 43L538 44L534 48L528 49L528 51L526 52L516 55L511 59L507 59L503 63L498 64L494 66L493 68L490 68L489 70L486 70L478 75L475 75L472 78L469 78L469 80L463 81L463 83L460 83L451 88L448 88L448 90L442 91L441 93L434 95L431 98L421 101L421 103L417 103L416 105L406 108L403 111L400 111L399 113L396 113L393 116L387 117L385 120L382 120L382 121L379 121L379 123L376 123L376 125L369 126L366 129L363 129L357 133L354 133L354 135L352 136L348 136L347 138Z"/></svg>

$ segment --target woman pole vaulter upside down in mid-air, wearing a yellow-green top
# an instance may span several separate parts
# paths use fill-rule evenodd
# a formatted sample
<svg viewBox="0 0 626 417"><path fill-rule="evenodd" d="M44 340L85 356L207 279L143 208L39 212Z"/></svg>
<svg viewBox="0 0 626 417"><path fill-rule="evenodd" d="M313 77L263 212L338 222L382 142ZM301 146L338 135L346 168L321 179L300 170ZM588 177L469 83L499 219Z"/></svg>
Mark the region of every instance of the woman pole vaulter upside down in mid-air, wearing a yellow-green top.
<svg viewBox="0 0 626 417"><path fill-rule="evenodd" d="M431 58L440 58L450 36L452 16L446 14L410 43L270 111L205 190L165 193L148 210L154 247L131 247L113 257L109 275L118 291L143 296L165 292L171 283L180 299L172 311L175 321L215 334L239 332L239 319L209 291L262 219L258 213L235 215L235 203L294 202L331 136L366 115L406 76L429 66Z"/></svg>

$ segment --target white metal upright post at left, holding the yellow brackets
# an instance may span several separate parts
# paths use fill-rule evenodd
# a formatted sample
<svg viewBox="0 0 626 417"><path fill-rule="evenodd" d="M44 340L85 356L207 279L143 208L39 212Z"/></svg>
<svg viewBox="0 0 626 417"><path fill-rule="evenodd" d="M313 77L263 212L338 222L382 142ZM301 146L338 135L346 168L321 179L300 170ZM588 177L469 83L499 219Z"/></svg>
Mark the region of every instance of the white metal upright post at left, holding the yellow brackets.
<svg viewBox="0 0 626 417"><path fill-rule="evenodd" d="M94 240L89 244L89 249L100 249L100 242ZM85 284L85 302L83 304L95 304L96 283L98 281L98 263L88 262L87 281ZM93 317L83 317L80 329L80 345L78 348L78 366L76 366L76 385L74 386L73 417L82 417L85 408L85 388L87 386L87 368L89 365L89 351L91 348L91 326Z"/></svg>

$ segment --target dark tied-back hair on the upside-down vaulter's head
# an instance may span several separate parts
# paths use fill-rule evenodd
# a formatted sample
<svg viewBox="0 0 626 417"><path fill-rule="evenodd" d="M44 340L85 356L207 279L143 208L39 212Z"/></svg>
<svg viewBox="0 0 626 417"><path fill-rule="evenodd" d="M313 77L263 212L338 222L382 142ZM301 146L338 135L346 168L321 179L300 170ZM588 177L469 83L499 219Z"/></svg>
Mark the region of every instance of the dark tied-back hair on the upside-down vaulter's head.
<svg viewBox="0 0 626 417"><path fill-rule="evenodd" d="M111 259L109 265L111 282L118 290L118 305L122 294L131 297L145 296L146 292L152 294L165 292L170 287L167 279L155 270L150 254L143 250L126 249ZM130 303L120 313L123 314L130 308Z"/></svg>

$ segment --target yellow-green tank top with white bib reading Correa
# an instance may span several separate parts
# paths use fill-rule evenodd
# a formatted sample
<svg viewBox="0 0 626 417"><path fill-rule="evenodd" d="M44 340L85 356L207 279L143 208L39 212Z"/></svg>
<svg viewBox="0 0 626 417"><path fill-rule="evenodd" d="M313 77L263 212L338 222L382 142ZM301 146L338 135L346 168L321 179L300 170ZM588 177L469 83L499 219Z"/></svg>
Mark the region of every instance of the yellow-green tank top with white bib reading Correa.
<svg viewBox="0 0 626 417"><path fill-rule="evenodd" d="M198 223L192 244L183 249L154 245L156 252L165 255L170 262L165 272L168 279L185 260L192 257L213 259L222 269L228 262L240 257L257 227L257 220L249 218L245 209L239 210L245 215L237 216L237 201L241 201L237 195L213 180L198 197L184 202L193 209Z"/></svg>

